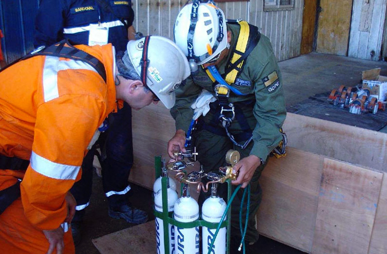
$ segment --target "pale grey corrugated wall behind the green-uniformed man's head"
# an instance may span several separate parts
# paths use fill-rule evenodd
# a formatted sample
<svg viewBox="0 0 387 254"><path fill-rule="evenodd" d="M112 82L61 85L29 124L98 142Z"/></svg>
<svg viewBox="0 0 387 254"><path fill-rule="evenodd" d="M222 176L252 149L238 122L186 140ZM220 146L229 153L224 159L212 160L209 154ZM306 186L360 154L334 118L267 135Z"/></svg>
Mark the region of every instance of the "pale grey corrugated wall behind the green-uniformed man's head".
<svg viewBox="0 0 387 254"><path fill-rule="evenodd" d="M216 0L215 0L216 1ZM173 39L175 19L185 0L133 0L137 31ZM299 56L302 35L303 0L293 10L263 11L263 0L221 2L227 19L243 19L257 26L272 43L279 61Z"/></svg>

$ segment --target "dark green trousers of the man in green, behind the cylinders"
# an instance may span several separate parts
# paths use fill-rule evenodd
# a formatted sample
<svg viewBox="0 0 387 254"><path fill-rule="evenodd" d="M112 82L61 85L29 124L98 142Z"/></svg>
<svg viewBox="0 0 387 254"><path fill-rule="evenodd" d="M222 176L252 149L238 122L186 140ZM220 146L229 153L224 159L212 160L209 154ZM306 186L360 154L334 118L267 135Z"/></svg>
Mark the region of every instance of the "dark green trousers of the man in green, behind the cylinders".
<svg viewBox="0 0 387 254"><path fill-rule="evenodd" d="M251 142L244 150L235 146L227 136L220 136L213 134L207 130L200 130L194 134L194 144L198 151L198 160L206 172L214 171L217 172L219 167L226 165L226 153L230 149L237 150L240 153L240 158L249 156L253 142ZM259 204L262 200L262 189L259 184L259 178L262 170L265 168L264 165L259 166L250 181L250 211L247 225L247 232L245 236L246 242L255 242L258 240L259 233L255 228L255 214L258 211ZM232 191L235 190L233 186ZM232 192L233 193L233 192ZM218 194L227 202L227 184L218 185ZM201 191L199 195L199 207L202 207L203 202L209 197L210 191L207 193ZM239 227L239 212L240 203L243 195L243 189L240 189L235 196L231 204L231 236L241 237ZM247 206L247 193L243 207ZM246 218L246 210L242 210L242 222ZM244 224L242 224L244 226ZM242 227L243 228L243 227Z"/></svg>

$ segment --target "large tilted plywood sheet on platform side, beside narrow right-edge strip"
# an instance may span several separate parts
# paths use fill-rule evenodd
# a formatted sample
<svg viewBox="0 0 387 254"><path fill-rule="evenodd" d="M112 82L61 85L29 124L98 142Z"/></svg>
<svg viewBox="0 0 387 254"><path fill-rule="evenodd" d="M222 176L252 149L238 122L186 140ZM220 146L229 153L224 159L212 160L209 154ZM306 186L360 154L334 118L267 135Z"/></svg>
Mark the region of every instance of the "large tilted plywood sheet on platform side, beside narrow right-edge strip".
<svg viewBox="0 0 387 254"><path fill-rule="evenodd" d="M313 254L365 254L383 174L324 159Z"/></svg>

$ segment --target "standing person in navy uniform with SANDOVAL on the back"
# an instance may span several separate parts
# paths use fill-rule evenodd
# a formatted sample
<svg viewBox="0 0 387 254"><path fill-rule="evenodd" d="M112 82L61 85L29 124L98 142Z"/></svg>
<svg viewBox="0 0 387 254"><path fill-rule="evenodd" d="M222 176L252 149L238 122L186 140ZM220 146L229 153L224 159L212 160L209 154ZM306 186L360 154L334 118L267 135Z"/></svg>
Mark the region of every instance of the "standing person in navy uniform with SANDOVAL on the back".
<svg viewBox="0 0 387 254"><path fill-rule="evenodd" d="M62 39L73 45L112 43L125 51L128 40L135 38L131 0L41 0L35 20L34 46L48 46ZM145 211L128 203L128 177L133 165L131 108L123 107L108 117L108 129L99 138L102 150L103 189L109 201L109 216L140 224L148 220ZM71 223L75 245L81 241L81 225L89 205L95 147L86 155L82 179L71 189L77 201Z"/></svg>

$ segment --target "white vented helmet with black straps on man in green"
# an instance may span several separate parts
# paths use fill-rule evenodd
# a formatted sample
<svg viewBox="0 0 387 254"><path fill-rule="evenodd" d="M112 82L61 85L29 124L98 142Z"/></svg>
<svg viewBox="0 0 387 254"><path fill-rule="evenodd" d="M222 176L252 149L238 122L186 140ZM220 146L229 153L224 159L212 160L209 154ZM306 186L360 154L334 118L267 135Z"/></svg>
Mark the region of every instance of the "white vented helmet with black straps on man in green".
<svg viewBox="0 0 387 254"><path fill-rule="evenodd" d="M180 10L175 22L174 36L176 44L190 64L193 63L192 60L198 65L205 64L227 46L224 13L212 1L194 0Z"/></svg>

